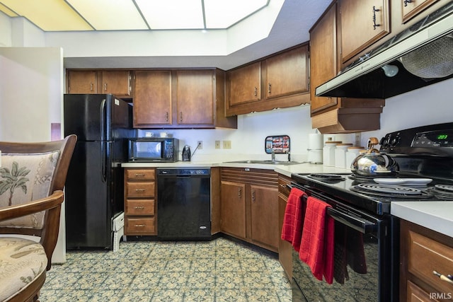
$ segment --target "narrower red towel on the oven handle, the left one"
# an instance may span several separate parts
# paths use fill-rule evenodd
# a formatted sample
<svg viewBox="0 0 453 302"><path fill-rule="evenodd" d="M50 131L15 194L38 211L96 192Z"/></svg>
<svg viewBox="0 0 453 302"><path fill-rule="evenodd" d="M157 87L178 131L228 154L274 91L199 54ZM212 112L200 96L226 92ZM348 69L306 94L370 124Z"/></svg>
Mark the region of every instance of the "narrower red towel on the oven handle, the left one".
<svg viewBox="0 0 453 302"><path fill-rule="evenodd" d="M285 208L285 216L283 216L282 239L291 243L298 252L302 239L302 221L304 219L302 196L304 194L304 191L296 187L291 189Z"/></svg>

